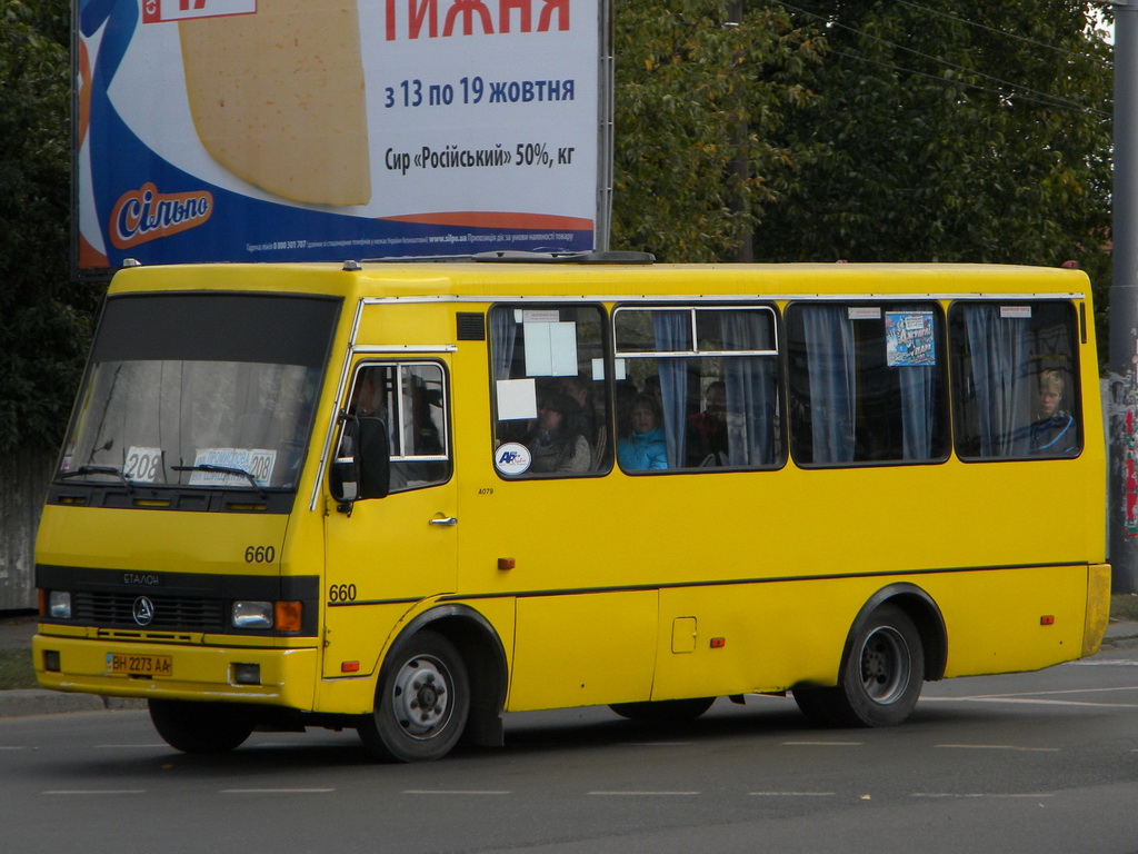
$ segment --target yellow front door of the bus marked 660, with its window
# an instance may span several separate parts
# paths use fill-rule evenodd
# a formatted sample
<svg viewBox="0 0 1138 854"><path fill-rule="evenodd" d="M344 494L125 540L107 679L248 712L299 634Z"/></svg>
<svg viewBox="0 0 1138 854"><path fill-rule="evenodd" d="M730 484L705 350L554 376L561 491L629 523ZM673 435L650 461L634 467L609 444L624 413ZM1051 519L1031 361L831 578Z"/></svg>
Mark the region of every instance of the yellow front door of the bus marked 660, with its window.
<svg viewBox="0 0 1138 854"><path fill-rule="evenodd" d="M325 515L324 678L368 675L396 622L421 599L454 591L456 490L448 364L437 356L364 361L341 408L378 418L390 445L390 492ZM351 419L333 455L351 454Z"/></svg>

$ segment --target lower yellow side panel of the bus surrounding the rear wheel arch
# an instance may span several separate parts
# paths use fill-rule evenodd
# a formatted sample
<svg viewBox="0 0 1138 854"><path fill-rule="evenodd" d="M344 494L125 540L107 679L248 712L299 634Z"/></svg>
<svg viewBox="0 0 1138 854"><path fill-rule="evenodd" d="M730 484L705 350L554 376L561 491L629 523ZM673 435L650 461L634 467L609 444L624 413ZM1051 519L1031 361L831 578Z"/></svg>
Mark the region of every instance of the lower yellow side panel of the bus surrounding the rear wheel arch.
<svg viewBox="0 0 1138 854"><path fill-rule="evenodd" d="M652 699L835 684L858 611L896 582L926 590L941 608L946 676L1082 655L1086 566L677 588L660 593Z"/></svg>

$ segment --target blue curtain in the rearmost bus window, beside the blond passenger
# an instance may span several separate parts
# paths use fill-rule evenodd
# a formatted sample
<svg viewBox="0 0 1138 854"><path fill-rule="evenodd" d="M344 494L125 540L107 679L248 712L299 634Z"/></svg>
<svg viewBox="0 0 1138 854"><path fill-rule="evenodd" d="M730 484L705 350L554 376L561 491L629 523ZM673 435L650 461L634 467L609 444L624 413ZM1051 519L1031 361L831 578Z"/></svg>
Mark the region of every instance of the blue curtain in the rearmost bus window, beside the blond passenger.
<svg viewBox="0 0 1138 854"><path fill-rule="evenodd" d="M1025 457L1030 438L1030 319L1000 317L999 305L965 306L982 457ZM1029 315L1030 317L1030 315Z"/></svg>

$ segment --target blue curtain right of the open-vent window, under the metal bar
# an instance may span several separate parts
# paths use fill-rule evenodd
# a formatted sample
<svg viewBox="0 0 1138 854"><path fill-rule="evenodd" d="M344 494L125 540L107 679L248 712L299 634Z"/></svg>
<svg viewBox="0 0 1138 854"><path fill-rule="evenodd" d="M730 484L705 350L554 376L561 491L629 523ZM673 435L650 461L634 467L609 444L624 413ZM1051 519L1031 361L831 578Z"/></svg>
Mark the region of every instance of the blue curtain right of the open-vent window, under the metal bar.
<svg viewBox="0 0 1138 854"><path fill-rule="evenodd" d="M754 311L719 313L724 350L774 350L770 315ZM768 466L775 460L774 413L777 361L770 356L724 359L727 386L727 465Z"/></svg>

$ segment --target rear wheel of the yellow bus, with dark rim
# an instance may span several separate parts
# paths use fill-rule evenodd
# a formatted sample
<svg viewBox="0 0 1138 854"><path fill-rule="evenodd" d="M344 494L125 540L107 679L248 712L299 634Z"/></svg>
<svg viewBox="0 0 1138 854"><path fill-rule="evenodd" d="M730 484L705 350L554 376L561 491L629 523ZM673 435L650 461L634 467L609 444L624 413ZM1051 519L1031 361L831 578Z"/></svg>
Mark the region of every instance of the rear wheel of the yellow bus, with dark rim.
<svg viewBox="0 0 1138 854"><path fill-rule="evenodd" d="M807 717L833 726L892 726L921 697L924 648L913 619L892 605L877 608L856 630L835 688L794 689Z"/></svg>

